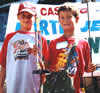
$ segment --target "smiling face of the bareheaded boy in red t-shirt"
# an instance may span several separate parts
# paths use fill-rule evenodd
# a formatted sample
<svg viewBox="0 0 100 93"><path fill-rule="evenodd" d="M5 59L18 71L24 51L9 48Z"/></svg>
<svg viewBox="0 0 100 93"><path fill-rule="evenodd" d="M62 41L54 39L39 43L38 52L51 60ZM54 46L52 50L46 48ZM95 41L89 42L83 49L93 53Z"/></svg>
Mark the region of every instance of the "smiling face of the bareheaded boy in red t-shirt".
<svg viewBox="0 0 100 93"><path fill-rule="evenodd" d="M78 22L78 19L72 15L71 11L60 11L59 22L64 30L64 35L74 35L75 24Z"/></svg>

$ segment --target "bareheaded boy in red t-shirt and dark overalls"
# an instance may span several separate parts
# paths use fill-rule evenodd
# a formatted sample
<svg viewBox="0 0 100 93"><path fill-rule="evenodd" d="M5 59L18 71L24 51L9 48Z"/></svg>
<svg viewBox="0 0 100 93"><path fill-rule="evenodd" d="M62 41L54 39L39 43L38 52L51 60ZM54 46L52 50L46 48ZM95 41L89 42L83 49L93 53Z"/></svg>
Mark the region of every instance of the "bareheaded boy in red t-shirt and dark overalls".
<svg viewBox="0 0 100 93"><path fill-rule="evenodd" d="M80 93L80 77L84 71L92 72L96 67L91 64L89 44L75 37L79 20L76 8L70 4L60 6L58 17L64 34L49 44L51 75L47 76L44 93Z"/></svg>

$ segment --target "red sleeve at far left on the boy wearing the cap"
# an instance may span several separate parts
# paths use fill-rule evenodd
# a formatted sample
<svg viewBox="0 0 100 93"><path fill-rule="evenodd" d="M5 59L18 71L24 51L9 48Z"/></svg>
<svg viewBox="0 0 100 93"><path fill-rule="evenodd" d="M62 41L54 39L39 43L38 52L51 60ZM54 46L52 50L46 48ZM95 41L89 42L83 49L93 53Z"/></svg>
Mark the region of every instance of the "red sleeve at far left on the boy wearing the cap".
<svg viewBox="0 0 100 93"><path fill-rule="evenodd" d="M8 47L8 42L10 38L14 35L15 33L8 34L4 40L3 46L1 48L0 52L0 65L2 65L4 68L6 68L6 57L7 57L7 47Z"/></svg>

